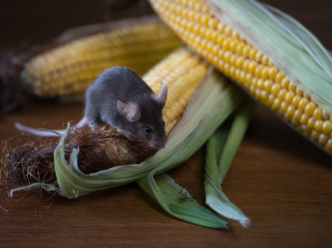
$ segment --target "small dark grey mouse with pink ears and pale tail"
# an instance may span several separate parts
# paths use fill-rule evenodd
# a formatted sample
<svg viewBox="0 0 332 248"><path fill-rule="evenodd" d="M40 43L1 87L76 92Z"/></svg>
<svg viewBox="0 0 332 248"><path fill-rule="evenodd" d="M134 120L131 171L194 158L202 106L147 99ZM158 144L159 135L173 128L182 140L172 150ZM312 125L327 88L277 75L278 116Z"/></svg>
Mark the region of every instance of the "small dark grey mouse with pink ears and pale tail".
<svg viewBox="0 0 332 248"><path fill-rule="evenodd" d="M167 86L164 82L160 84L160 92L156 94L138 74L127 67L105 69L86 90L84 117L75 128L109 124L124 132L129 139L139 137L151 147L163 149L167 137L162 110L167 99ZM14 125L21 131L43 137L62 136L65 132L39 130L20 123Z"/></svg>

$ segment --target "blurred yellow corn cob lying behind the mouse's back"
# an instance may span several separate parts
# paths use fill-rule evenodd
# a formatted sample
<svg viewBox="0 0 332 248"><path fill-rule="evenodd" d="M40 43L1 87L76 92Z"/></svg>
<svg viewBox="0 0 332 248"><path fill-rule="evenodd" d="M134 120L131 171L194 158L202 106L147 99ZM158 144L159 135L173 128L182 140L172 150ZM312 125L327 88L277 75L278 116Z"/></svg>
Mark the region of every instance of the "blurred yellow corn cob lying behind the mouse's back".
<svg viewBox="0 0 332 248"><path fill-rule="evenodd" d="M127 66L142 74L180 44L159 19L138 21L42 53L25 64L21 75L40 97L78 94L108 67Z"/></svg>

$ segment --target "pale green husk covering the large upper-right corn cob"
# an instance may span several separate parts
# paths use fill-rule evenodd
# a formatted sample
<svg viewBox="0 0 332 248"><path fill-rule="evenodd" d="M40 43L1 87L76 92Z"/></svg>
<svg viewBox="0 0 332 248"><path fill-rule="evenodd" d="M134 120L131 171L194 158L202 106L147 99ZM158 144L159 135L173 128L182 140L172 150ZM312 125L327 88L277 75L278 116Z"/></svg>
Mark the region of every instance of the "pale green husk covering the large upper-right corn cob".
<svg viewBox="0 0 332 248"><path fill-rule="evenodd" d="M208 0L211 12L269 57L332 115L332 56L298 21L255 0Z"/></svg>

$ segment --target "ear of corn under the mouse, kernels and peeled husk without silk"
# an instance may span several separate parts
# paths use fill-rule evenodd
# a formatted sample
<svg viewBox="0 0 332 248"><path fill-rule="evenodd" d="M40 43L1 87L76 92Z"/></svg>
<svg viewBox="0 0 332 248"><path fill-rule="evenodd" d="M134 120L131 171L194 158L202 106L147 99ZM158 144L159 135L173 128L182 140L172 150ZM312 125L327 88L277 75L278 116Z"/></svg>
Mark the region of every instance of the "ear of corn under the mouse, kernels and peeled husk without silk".
<svg viewBox="0 0 332 248"><path fill-rule="evenodd" d="M160 87L159 76L166 68L167 75L172 77L162 77L168 86L170 99L174 100L166 102L164 107L165 128L170 130L169 137L171 137L164 149L140 164L117 166L93 174L83 174L77 165L78 149L73 149L69 163L65 160L65 143L70 133L68 124L66 134L61 137L59 146L54 151L54 166L59 188L35 183L13 189L11 193L27 188L43 187L73 198L142 178L139 180L139 185L170 214L192 223L225 228L225 221L196 202L188 201L179 205L177 191L180 186L166 175L156 177L155 175L181 164L192 156L241 104L245 94L235 85L226 82L219 74L207 70L208 65L200 56L183 49L174 51L143 76L156 92ZM185 104L178 103L179 92L181 98L185 99ZM183 97L186 95L187 98ZM187 104L189 97L191 99Z"/></svg>

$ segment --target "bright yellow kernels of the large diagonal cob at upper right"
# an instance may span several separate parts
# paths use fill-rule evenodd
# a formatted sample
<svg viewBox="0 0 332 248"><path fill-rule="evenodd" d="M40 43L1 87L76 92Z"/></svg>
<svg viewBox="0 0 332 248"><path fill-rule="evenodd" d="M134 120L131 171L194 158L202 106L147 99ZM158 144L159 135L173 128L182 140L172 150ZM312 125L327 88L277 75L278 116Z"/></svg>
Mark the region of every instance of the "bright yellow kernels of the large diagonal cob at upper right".
<svg viewBox="0 0 332 248"><path fill-rule="evenodd" d="M161 18L192 49L278 112L315 143L332 152L332 118L272 61L220 22L200 0L151 0Z"/></svg>

